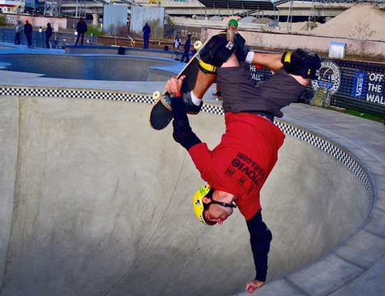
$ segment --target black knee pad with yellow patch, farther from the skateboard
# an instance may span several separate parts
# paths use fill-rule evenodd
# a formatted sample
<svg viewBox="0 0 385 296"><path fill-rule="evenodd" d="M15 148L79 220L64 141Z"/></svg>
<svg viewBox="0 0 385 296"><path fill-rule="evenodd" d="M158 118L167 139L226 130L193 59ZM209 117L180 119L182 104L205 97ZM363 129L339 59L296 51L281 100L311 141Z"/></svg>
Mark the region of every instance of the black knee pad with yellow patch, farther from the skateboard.
<svg viewBox="0 0 385 296"><path fill-rule="evenodd" d="M319 55L301 48L294 52L284 52L281 63L289 74L300 75L305 79L317 79L321 68Z"/></svg>

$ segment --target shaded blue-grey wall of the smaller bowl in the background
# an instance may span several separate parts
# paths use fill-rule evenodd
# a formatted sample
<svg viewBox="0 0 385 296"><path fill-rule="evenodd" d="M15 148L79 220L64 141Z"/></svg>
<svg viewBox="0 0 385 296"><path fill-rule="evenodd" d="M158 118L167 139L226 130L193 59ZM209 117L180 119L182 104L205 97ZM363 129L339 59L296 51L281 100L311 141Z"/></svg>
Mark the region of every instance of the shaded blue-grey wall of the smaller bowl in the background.
<svg viewBox="0 0 385 296"><path fill-rule="evenodd" d="M16 72L40 73L45 77L112 81L167 81L171 73L160 66L174 61L146 56L0 54ZM108 71L106 71L108 69Z"/></svg>

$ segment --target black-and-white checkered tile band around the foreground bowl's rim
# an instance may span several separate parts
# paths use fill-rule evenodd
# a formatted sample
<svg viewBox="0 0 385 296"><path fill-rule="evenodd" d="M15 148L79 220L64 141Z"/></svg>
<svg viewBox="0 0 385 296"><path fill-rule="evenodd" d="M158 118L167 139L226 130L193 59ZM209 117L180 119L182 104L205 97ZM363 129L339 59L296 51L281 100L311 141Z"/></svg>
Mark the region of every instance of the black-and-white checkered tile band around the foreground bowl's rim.
<svg viewBox="0 0 385 296"><path fill-rule="evenodd" d="M115 100L115 101L126 101L126 102L140 102L153 104L155 100L151 98L151 95L144 94L134 94L134 93L113 93L113 92L104 92L104 91L79 91L79 90L70 90L70 89L58 89L58 88L26 88L26 87L1 87L0 86L0 95L22 95L22 96L33 96L33 97L51 97L51 98L87 98L87 99L100 99L100 100ZM223 115L225 114L222 107L212 105L212 104L203 104L202 111ZM366 192L370 201L373 201L373 187L372 182L368 176L368 172L363 169L358 160L349 155L345 150L338 145L323 139L315 134L311 134L305 130L301 130L299 127L294 127L287 123L281 121L275 121L282 132L290 134L297 139L308 142L313 146L323 150L329 155L335 157L340 162L345 164L363 183L365 186Z"/></svg>

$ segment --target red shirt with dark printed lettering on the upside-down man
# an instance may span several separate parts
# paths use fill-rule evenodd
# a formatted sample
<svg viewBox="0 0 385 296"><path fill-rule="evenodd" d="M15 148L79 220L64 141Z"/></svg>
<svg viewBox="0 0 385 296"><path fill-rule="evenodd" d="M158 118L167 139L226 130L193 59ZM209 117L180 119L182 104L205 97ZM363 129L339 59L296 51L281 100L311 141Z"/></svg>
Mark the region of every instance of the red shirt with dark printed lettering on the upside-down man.
<svg viewBox="0 0 385 296"><path fill-rule="evenodd" d="M226 132L212 151L206 143L188 150L203 180L215 189L236 196L246 221L258 210L259 192L278 159L285 134L261 116L225 114Z"/></svg>

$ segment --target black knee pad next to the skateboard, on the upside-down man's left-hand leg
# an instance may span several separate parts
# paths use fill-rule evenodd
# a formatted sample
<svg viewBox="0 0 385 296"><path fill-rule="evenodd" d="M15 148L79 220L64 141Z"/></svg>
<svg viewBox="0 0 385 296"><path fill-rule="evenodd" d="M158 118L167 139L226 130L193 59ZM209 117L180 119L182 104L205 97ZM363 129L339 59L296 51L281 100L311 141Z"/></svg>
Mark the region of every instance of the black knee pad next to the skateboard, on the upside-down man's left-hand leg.
<svg viewBox="0 0 385 296"><path fill-rule="evenodd" d="M234 43L227 41L223 36L213 36L210 40L199 50L200 59L209 65L220 67L225 63L235 51Z"/></svg>

